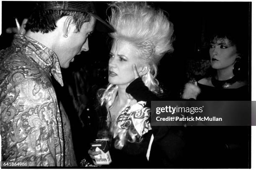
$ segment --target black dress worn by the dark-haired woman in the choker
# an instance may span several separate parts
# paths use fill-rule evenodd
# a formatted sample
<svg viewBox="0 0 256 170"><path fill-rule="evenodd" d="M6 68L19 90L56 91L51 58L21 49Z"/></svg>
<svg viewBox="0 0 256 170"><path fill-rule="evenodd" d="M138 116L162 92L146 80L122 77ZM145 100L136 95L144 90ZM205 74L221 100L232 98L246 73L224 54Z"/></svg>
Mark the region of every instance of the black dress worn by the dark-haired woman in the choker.
<svg viewBox="0 0 256 170"><path fill-rule="evenodd" d="M197 100L250 100L248 86L223 89L197 83ZM187 127L187 164L190 168L250 168L250 126Z"/></svg>

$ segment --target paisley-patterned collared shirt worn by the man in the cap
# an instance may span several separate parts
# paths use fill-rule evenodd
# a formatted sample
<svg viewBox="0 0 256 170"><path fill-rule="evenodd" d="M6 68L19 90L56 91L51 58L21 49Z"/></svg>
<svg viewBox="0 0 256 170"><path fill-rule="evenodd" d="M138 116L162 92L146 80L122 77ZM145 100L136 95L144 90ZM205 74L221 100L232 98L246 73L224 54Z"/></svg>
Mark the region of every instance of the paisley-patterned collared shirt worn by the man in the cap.
<svg viewBox="0 0 256 170"><path fill-rule="evenodd" d="M70 123L50 72L63 86L56 54L24 35L0 51L3 161L29 166L76 166Z"/></svg>

